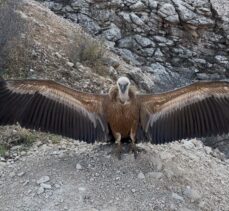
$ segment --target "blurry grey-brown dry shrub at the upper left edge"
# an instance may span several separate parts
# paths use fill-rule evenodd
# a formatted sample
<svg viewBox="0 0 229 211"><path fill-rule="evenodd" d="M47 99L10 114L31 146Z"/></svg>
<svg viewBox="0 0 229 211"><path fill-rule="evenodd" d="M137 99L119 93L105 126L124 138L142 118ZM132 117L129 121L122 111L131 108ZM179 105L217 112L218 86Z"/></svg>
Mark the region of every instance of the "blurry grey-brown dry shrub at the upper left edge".
<svg viewBox="0 0 229 211"><path fill-rule="evenodd" d="M0 0L0 75L26 77L30 55L28 26L17 9L20 0Z"/></svg>

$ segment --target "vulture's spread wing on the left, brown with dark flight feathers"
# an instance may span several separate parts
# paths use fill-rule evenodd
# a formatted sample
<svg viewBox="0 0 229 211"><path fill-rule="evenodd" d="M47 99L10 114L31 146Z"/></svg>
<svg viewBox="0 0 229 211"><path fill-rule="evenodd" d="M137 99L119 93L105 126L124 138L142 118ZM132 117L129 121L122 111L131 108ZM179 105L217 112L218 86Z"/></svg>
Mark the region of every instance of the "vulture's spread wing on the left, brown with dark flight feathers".
<svg viewBox="0 0 229 211"><path fill-rule="evenodd" d="M0 125L18 122L25 128L86 142L106 140L105 98L53 81L0 81Z"/></svg>

